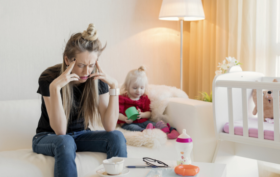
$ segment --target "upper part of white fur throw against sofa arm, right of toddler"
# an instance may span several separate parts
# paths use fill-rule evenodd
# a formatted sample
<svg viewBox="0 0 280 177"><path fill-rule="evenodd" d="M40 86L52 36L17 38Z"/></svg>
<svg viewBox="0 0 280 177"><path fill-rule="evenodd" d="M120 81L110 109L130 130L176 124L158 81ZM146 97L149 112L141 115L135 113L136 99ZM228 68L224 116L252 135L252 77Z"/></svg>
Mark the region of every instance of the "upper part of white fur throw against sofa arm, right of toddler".
<svg viewBox="0 0 280 177"><path fill-rule="evenodd" d="M164 121L166 123L170 122L169 117L166 114L165 115L163 114L170 98L172 97L179 97L179 98L186 98L186 99L189 98L184 91L176 87L171 87L166 85L153 85L153 84L149 84L147 95L151 101L150 109L152 111L152 117L150 121L152 122L158 122L158 121Z"/></svg>

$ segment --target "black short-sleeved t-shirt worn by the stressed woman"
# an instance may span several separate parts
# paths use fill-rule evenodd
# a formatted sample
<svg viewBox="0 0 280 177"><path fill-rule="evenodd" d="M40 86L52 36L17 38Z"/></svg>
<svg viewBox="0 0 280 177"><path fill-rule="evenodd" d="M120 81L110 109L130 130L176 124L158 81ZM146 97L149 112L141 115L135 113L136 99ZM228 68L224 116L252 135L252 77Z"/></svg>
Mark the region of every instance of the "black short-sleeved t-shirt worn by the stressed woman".
<svg viewBox="0 0 280 177"><path fill-rule="evenodd" d="M48 69L47 69L48 70ZM56 71L53 71L56 72ZM46 76L44 75L44 72L42 73L41 76ZM57 73L56 77L59 76L59 73ZM56 78L55 77L55 78ZM55 78L48 78L47 79L39 79L39 88L37 93L42 95L42 106L41 106L41 117L38 123L38 127L36 129L36 133L40 132L54 132L53 129L50 126L50 119L48 116L46 104L44 101L44 97L50 97L50 84ZM84 118L78 119L78 112L80 110L79 104L80 104L80 99L83 93L85 83L80 84L77 87L73 87L73 94L74 94L74 103L77 107L77 109L71 109L70 113L70 118L69 118L69 123L67 127L67 132L73 132L73 131L80 131L84 130ZM108 84L102 82L101 80L98 80L98 92L99 95L105 94L109 92ZM60 90L60 94L62 94ZM82 106L82 105L81 105ZM88 128L89 129L89 128Z"/></svg>

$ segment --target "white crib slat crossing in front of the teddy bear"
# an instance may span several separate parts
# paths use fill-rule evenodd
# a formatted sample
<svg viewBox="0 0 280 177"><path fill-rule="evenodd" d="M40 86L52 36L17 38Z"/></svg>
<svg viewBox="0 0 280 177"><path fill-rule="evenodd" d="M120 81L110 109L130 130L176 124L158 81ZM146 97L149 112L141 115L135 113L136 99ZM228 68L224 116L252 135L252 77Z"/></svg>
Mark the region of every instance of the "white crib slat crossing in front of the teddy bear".
<svg viewBox="0 0 280 177"><path fill-rule="evenodd" d="M264 139L263 132L263 100L262 100L262 90L256 90L256 100L257 100L257 135L259 139Z"/></svg>

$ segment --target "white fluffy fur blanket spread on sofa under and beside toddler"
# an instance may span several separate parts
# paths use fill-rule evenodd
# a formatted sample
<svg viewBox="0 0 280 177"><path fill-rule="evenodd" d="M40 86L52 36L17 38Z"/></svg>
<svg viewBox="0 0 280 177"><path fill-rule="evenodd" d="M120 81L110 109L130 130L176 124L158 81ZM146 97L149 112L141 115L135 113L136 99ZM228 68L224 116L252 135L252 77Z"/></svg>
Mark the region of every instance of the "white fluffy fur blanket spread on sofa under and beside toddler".
<svg viewBox="0 0 280 177"><path fill-rule="evenodd" d="M169 102L169 98L180 97L188 98L187 94L182 90L166 86L166 85L153 85L149 84L149 93L147 94L151 100L150 108L152 110L152 118L150 121L158 122L160 120L169 122L167 115L163 112ZM95 130L104 130L103 127L95 126ZM93 129L93 128L91 128ZM121 131L127 139L127 145L131 146L145 146L148 148L159 148L161 144L166 143L166 133L160 129L145 129L144 131L129 131L117 125L116 130Z"/></svg>

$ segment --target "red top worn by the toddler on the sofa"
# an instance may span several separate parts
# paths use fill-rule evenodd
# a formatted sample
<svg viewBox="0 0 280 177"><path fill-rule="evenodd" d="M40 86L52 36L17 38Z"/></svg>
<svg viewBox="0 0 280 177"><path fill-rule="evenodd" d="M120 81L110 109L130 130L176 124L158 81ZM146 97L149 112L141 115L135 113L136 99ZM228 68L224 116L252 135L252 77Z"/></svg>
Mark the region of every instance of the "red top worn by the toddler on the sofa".
<svg viewBox="0 0 280 177"><path fill-rule="evenodd" d="M131 107L131 106L135 106L136 109L140 109L141 112L147 112L147 111L151 111L150 110L150 99L148 98L148 96L141 96L139 100L134 101L131 100L127 95L126 96L122 96L119 95L119 109L120 109L120 113L126 115L126 110L127 108ZM136 119L135 121L133 121L133 123L143 123L148 121L147 118L143 118L143 119ZM126 123L125 121L121 121L118 120L117 124L121 124L121 123Z"/></svg>

